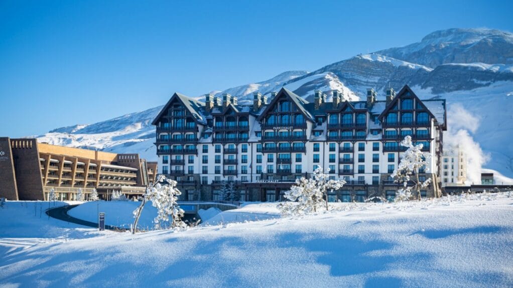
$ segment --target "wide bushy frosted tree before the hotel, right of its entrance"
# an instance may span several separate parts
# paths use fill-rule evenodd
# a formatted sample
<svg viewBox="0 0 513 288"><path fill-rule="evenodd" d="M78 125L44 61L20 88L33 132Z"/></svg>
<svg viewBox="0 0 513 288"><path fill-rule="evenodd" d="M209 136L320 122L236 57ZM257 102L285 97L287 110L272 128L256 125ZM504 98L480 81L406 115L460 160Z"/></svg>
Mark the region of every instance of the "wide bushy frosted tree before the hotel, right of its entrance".
<svg viewBox="0 0 513 288"><path fill-rule="evenodd" d="M285 198L291 202L281 203L278 207L283 215L305 215L317 212L325 202L328 210L328 191L338 190L344 184L344 180L329 180L329 174L324 173L322 168L317 168L311 178L302 177L296 180L295 185L285 192Z"/></svg>

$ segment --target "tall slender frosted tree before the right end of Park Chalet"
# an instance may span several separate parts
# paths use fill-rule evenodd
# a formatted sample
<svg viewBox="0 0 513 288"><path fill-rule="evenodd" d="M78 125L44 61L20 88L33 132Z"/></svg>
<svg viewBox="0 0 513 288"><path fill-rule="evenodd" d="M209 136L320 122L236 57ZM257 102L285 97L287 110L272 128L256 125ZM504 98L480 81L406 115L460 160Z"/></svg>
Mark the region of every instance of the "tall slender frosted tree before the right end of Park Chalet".
<svg viewBox="0 0 513 288"><path fill-rule="evenodd" d="M407 147L404 152L403 159L399 163L396 170L393 171L392 177L397 183L403 183L403 188L399 189L396 194L396 201L409 200L412 197L412 191L417 192L417 197L421 200L420 189L426 188L431 182L431 178L426 179L424 182L419 181L419 169L425 167L426 157L422 153L422 143L413 145L411 136L406 136L401 145ZM427 171L427 168L425 169ZM415 179L412 179L415 175ZM408 182L413 185L408 186Z"/></svg>

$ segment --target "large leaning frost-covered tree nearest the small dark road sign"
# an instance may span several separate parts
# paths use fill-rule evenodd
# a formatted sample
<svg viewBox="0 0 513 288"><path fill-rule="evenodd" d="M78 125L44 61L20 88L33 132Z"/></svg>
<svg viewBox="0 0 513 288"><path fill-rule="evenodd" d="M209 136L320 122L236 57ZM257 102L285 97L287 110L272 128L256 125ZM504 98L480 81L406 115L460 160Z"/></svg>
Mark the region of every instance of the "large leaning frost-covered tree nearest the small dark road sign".
<svg viewBox="0 0 513 288"><path fill-rule="evenodd" d="M160 184L161 182L166 184ZM135 233L143 208L148 201L151 201L153 207L157 208L157 216L153 220L156 228L160 228L161 223L169 221L169 218L171 218L172 228L187 227L187 224L182 221L184 210L177 204L178 196L181 194L182 192L176 189L176 181L166 179L164 175L159 175L157 181L146 189L141 205L133 211L135 220L132 234Z"/></svg>

